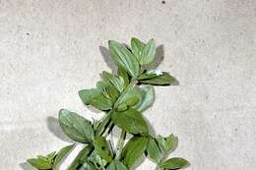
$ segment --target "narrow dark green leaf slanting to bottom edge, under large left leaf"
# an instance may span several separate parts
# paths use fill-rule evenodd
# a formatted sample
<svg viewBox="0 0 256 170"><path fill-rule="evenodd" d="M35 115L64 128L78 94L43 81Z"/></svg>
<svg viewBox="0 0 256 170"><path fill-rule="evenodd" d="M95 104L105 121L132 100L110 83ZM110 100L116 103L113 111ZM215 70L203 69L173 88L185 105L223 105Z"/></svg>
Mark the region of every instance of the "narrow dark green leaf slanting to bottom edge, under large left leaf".
<svg viewBox="0 0 256 170"><path fill-rule="evenodd" d="M86 145L77 155L75 160L72 162L72 164L69 166L68 170L77 170L80 162L85 162L87 161L87 156L89 153L94 149L94 146L89 144Z"/></svg>

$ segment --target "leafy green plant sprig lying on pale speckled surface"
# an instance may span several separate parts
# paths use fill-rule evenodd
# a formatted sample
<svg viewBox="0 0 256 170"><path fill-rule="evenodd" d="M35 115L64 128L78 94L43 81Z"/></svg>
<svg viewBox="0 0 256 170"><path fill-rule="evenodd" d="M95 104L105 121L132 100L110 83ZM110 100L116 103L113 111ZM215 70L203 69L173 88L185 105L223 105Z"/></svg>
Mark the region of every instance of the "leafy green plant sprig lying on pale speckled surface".
<svg viewBox="0 0 256 170"><path fill-rule="evenodd" d="M105 115L91 122L77 113L61 109L59 124L73 141L84 143L68 170L129 170L145 154L158 169L174 170L187 167L189 162L180 157L168 159L177 145L177 138L153 137L142 112L155 100L153 85L172 85L174 78L168 73L157 74L156 44L153 39L143 43L131 39L131 49L116 41L109 41L110 57L118 67L117 74L102 72L95 88L82 89L79 96L86 105L96 107ZM116 149L107 141L113 127L121 129ZM125 142L126 135L132 137ZM75 144L59 152L28 159L35 168L58 170L59 164Z"/></svg>

